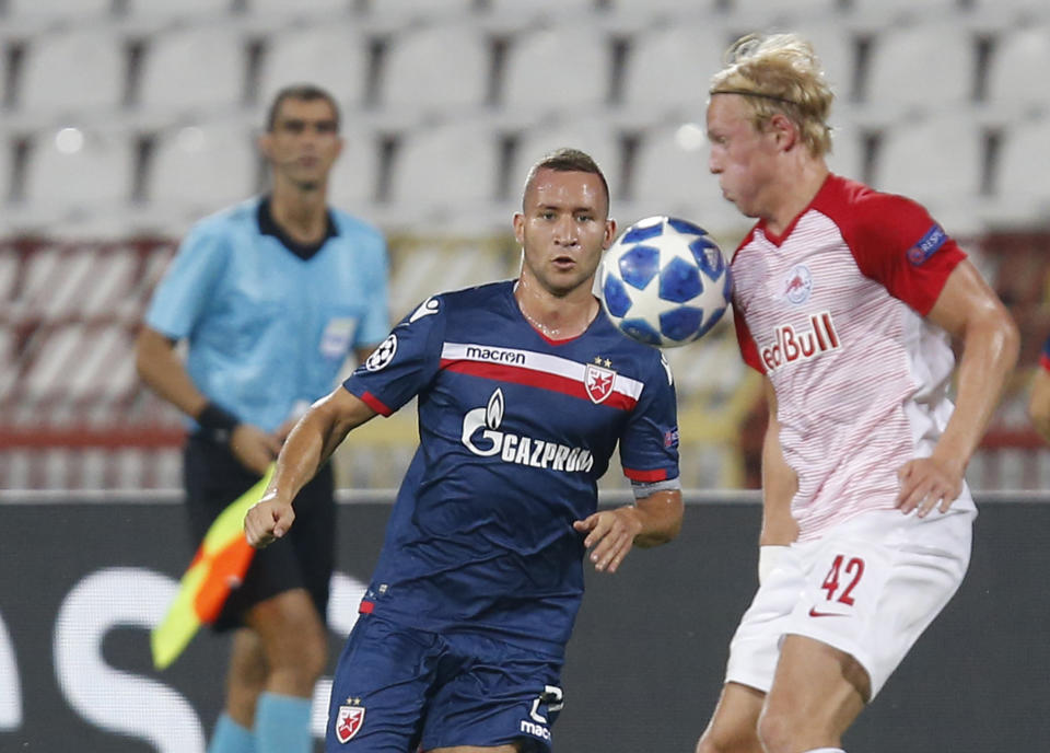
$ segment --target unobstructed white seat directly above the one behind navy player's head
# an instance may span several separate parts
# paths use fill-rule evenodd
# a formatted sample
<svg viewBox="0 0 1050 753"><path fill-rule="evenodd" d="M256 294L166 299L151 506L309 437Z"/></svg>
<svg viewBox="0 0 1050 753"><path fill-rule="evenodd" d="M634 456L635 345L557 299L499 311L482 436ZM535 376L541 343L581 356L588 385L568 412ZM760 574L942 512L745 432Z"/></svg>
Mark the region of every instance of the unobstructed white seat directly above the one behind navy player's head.
<svg viewBox="0 0 1050 753"><path fill-rule="evenodd" d="M567 25L524 34L508 50L501 102L508 115L581 113L610 93L612 47L606 33Z"/></svg>

